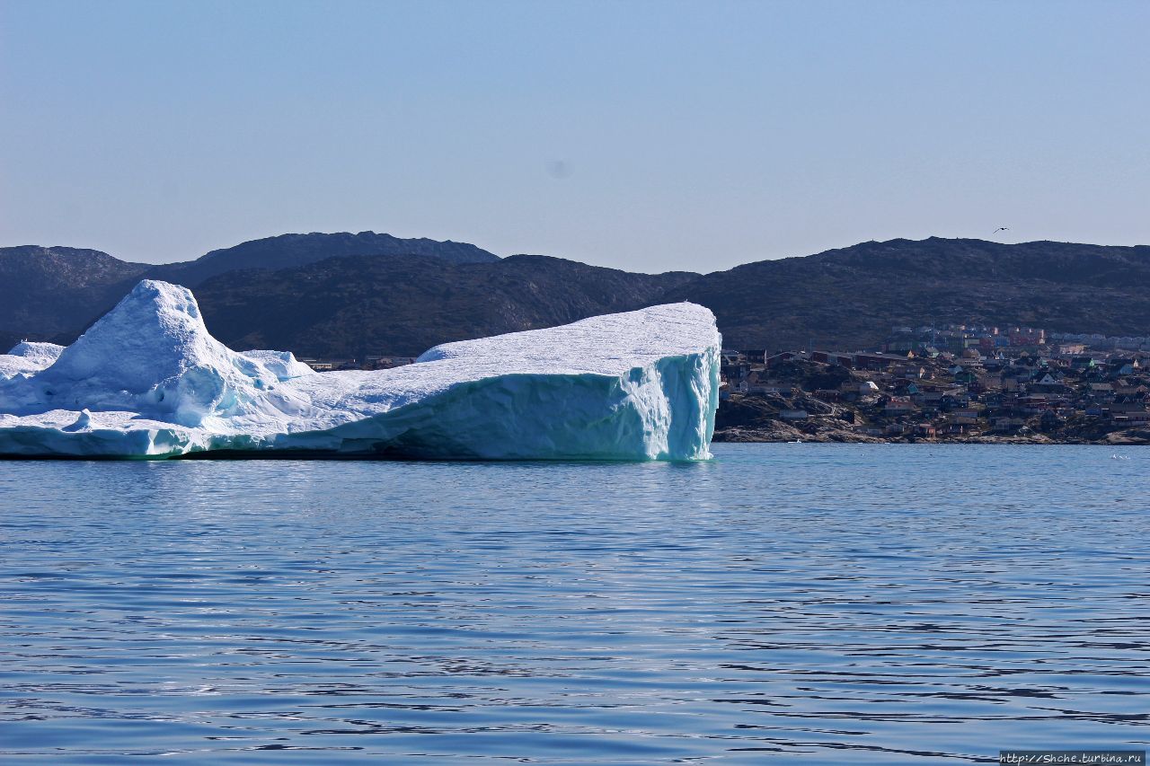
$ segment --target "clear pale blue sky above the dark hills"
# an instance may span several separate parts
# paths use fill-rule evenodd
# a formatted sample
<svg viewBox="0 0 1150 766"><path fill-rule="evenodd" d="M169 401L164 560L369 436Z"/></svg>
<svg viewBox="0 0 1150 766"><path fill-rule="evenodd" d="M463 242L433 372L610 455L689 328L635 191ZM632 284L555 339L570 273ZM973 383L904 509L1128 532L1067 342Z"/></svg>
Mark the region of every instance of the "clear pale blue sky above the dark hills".
<svg viewBox="0 0 1150 766"><path fill-rule="evenodd" d="M1150 2L0 0L0 245L1150 243Z"/></svg>

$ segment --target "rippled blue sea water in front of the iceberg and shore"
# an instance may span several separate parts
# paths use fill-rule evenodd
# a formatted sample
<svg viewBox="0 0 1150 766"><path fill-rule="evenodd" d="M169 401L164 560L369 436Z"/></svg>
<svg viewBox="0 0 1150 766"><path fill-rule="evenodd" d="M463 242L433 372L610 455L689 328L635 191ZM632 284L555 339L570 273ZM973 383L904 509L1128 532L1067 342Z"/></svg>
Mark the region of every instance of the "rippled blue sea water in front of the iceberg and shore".
<svg viewBox="0 0 1150 766"><path fill-rule="evenodd" d="M1150 742L1150 450L0 462L0 761Z"/></svg>

